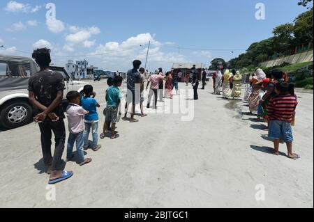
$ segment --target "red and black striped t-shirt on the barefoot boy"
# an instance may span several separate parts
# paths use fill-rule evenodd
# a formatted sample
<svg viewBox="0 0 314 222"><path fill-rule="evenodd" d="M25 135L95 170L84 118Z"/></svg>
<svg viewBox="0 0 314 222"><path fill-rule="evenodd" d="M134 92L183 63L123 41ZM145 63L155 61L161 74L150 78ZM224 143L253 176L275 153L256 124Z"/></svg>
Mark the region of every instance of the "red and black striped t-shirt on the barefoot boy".
<svg viewBox="0 0 314 222"><path fill-rule="evenodd" d="M276 95L269 101L269 120L285 120L291 122L297 104L296 95Z"/></svg>

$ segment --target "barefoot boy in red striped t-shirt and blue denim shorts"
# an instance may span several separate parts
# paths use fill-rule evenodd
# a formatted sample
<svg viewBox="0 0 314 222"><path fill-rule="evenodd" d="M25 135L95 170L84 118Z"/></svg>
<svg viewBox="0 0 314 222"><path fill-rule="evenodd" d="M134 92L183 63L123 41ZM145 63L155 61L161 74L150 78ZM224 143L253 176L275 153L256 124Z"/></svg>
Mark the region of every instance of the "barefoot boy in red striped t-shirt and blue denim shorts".
<svg viewBox="0 0 314 222"><path fill-rule="evenodd" d="M269 138L274 140L274 154L279 154L279 143L287 143L287 157L299 159L299 155L292 152L291 122L297 108L297 97L291 95L292 85L285 82L276 84L276 96L271 98L268 105Z"/></svg>

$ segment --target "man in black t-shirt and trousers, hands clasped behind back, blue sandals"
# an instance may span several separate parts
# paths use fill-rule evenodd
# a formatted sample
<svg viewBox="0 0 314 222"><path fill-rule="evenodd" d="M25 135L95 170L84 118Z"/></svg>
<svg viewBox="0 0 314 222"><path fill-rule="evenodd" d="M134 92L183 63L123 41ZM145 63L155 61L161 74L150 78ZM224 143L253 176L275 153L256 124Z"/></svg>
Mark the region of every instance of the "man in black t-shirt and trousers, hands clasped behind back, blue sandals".
<svg viewBox="0 0 314 222"><path fill-rule="evenodd" d="M29 79L29 102L36 106L41 133L41 148L43 161L50 174L49 184L56 184L73 176L72 171L63 171L62 154L66 142L65 118L62 108L64 81L63 76L50 69L50 49L36 49L32 57L40 66L40 71ZM56 145L54 155L51 153L51 138L54 133Z"/></svg>

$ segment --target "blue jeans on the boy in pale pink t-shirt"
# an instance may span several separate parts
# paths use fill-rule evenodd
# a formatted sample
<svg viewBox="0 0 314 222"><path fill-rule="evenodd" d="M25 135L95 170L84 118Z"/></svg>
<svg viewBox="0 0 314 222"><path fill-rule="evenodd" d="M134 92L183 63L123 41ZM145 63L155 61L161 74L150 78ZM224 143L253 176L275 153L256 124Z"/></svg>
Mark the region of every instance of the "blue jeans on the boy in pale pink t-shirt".
<svg viewBox="0 0 314 222"><path fill-rule="evenodd" d="M73 146L76 142L76 152L79 159L79 163L84 161L84 133L80 132L78 134L71 134L68 136L68 148L66 152L66 159L71 159L73 154Z"/></svg>

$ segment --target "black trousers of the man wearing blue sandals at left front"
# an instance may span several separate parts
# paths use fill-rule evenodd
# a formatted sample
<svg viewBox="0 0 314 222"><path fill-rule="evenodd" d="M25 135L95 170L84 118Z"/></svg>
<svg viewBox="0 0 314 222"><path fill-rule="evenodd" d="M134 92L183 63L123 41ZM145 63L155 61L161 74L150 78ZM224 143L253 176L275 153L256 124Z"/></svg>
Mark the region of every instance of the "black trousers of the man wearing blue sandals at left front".
<svg viewBox="0 0 314 222"><path fill-rule="evenodd" d="M64 126L63 119L58 122L42 122L39 123L39 129L41 133L41 149L43 151L43 159L45 166L52 166L53 171L62 170L62 154L64 150L64 144L66 143L66 127ZM51 138L52 132L54 133L54 156L51 152Z"/></svg>

